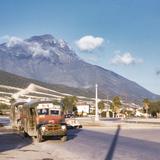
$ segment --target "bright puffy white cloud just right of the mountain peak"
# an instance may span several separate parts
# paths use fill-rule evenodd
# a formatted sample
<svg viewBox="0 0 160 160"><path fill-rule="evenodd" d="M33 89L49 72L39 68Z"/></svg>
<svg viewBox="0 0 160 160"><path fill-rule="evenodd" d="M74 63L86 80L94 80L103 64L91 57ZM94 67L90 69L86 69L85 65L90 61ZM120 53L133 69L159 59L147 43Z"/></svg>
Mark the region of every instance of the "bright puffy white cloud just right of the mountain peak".
<svg viewBox="0 0 160 160"><path fill-rule="evenodd" d="M100 47L103 42L104 39L102 37L87 35L76 41L76 45L81 51L92 51Z"/></svg>

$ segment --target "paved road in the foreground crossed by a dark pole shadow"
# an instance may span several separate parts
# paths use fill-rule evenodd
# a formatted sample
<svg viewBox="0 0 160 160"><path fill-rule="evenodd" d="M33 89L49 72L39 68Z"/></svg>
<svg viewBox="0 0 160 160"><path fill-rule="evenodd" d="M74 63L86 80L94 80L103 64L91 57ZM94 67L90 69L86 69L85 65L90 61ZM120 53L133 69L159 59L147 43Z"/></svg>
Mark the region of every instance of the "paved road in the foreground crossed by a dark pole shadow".
<svg viewBox="0 0 160 160"><path fill-rule="evenodd" d="M48 139L32 142L11 130L0 129L1 160L157 160L160 129L107 129L88 127L70 130L65 143Z"/></svg>

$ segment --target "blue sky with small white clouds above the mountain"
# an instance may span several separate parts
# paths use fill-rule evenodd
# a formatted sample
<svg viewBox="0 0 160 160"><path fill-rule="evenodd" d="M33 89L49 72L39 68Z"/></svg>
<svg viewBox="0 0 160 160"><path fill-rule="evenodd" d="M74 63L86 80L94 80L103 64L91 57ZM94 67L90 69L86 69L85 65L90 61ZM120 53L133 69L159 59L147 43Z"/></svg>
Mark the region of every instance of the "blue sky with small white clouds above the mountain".
<svg viewBox="0 0 160 160"><path fill-rule="evenodd" d="M160 95L159 0L0 0L0 42L52 34Z"/></svg>

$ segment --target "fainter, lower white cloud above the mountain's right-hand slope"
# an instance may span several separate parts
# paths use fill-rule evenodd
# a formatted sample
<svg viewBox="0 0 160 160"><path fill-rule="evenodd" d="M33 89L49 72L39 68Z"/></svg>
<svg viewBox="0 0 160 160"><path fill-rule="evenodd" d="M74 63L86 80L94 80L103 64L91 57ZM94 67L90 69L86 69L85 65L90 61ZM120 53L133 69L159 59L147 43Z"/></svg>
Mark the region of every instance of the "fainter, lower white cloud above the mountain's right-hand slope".
<svg viewBox="0 0 160 160"><path fill-rule="evenodd" d="M142 59L137 59L132 56L130 52L126 52L122 55L117 54L112 60L111 64L124 64L124 65L129 65L129 64L136 64L136 63L142 63Z"/></svg>

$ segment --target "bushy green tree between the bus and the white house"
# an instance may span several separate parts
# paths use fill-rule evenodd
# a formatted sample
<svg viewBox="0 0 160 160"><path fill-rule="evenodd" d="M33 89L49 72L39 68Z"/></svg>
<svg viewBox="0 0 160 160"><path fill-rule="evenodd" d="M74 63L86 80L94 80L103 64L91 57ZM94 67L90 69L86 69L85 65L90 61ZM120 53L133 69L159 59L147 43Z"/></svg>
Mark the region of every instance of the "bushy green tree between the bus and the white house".
<svg viewBox="0 0 160 160"><path fill-rule="evenodd" d="M65 113L76 112L77 111L77 97L76 96L65 96L61 102L63 104L63 109Z"/></svg>

